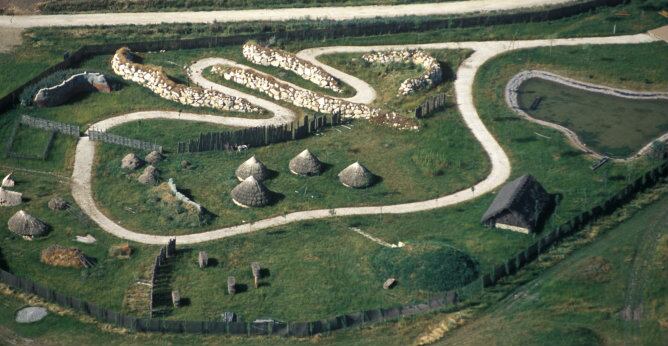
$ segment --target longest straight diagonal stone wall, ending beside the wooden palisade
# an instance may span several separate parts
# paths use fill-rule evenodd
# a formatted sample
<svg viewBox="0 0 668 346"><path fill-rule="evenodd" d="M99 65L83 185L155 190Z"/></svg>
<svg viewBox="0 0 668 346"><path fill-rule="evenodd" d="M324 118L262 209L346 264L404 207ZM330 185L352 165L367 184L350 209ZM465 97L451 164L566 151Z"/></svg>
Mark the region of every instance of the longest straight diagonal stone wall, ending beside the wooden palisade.
<svg viewBox="0 0 668 346"><path fill-rule="evenodd" d="M338 98L320 95L313 91L297 89L274 78L250 69L217 65L211 71L226 80L260 91L274 100L286 101L297 107L325 114L338 114L345 118L361 118L380 122L394 128L417 130L415 121L394 112L386 113L374 107L353 103Z"/></svg>

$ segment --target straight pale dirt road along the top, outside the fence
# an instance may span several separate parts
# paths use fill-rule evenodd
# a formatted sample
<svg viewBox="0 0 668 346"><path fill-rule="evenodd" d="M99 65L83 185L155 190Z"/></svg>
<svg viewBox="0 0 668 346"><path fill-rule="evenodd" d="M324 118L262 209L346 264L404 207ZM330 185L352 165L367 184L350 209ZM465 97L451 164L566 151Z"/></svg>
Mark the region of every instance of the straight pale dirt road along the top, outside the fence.
<svg viewBox="0 0 668 346"><path fill-rule="evenodd" d="M0 16L0 26L34 28L84 25L148 25L160 23L213 23L286 21L296 19L350 20L376 17L437 16L477 12L500 12L577 0L470 0L430 4L308 7L207 12L136 12Z"/></svg>

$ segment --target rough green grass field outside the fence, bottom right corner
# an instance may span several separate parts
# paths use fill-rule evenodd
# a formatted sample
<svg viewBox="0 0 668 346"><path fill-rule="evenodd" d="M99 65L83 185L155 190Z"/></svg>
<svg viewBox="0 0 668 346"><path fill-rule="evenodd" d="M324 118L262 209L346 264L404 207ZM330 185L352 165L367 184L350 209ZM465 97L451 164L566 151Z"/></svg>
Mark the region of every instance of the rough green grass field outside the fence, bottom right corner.
<svg viewBox="0 0 668 346"><path fill-rule="evenodd" d="M508 345L665 344L666 208L664 195L444 343L476 345L494 338ZM648 243L656 245L646 247ZM646 265L637 272L636 263L643 261ZM640 280L642 319L624 321L620 311L635 275Z"/></svg>

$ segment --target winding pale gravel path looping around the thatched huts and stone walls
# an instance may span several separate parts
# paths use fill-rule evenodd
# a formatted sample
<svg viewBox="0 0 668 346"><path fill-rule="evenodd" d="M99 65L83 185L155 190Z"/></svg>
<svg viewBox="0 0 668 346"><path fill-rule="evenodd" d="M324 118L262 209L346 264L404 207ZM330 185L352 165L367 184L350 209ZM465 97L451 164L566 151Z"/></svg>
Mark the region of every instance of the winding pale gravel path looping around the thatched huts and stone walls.
<svg viewBox="0 0 668 346"><path fill-rule="evenodd" d="M158 236L133 232L116 224L114 221L106 217L95 205L91 188L92 167L94 163L95 145L90 142L87 137L83 137L77 144L74 171L72 173L72 195L75 201L79 204L81 209L88 214L103 230L114 234L120 238L132 240L145 244L165 244L170 238L176 238L180 244L200 243L215 239L221 239L243 233L250 233L261 229L286 225L292 222L306 221L313 219L324 219L335 216L351 216L351 215L372 215L372 214L403 214L413 213L425 210L432 210L436 208L443 208L453 204L469 201L477 196L490 192L501 184L503 184L511 173L510 160L503 151L503 148L496 141L494 136L487 130L484 123L480 119L476 111L473 100L473 86L475 75L480 67L493 57L516 49L543 47L550 45L582 45L582 44L637 44L654 42L656 38L652 38L646 34L629 35L629 36L614 36L614 37L595 37L595 38L574 38L574 39L559 39L559 40L531 40L531 41L495 41L495 42L459 42L459 43L433 43L422 45L398 45L398 46L349 46L349 47L323 47L304 50L298 53L302 58L308 59L313 63L325 68L328 72L349 83L358 90L361 94L360 98L367 98L370 96L369 92L373 90L367 83L347 75L346 73L336 70L330 66L324 65L316 60L316 58L323 54L346 53L346 52L367 52L371 50L390 50L401 48L423 48L423 49L457 49L467 48L473 49L475 52L467 58L457 70L457 79L455 80L455 94L457 98L457 107L464 119L464 122L471 130L475 138L480 142L483 149L489 156L492 164L490 174L481 182L477 183L473 188L461 190L447 196L438 197L426 201L403 203L386 206L370 206L370 207L348 207L348 208L334 208L334 209L320 209L308 210L289 213L283 216L276 216L253 223L237 225L233 227L221 228L218 230L202 232L198 234L189 234L182 236ZM216 59L204 59L193 65L189 73L194 77L194 81L202 82L202 86L207 88L217 88L224 92L238 97L245 97L249 101L256 101L254 97L236 91L224 86L216 85L209 81L202 80L201 71L206 66L210 66ZM356 84L357 83L357 84ZM375 92L373 93L375 95ZM357 97L357 95L355 96ZM262 100L264 102L264 100ZM261 107L270 110L275 110L274 106L264 104ZM289 118L280 119L275 116L271 119L244 119L244 118L227 118L221 116L189 114L165 111L153 112L137 112L119 117L103 120L93 126L96 129L108 129L113 126L145 119L181 119L191 121L202 121L209 123L218 123L234 126L258 126L261 124L276 124Z"/></svg>

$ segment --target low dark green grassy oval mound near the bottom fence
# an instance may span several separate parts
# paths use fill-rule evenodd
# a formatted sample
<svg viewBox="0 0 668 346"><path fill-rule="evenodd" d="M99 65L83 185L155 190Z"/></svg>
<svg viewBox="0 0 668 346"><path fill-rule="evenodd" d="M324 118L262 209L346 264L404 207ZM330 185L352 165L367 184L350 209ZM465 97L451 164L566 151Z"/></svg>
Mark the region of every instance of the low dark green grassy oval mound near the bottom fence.
<svg viewBox="0 0 668 346"><path fill-rule="evenodd" d="M461 287L478 276L478 264L468 254L441 242L382 248L371 263L382 280L394 277L400 285L433 292Z"/></svg>

